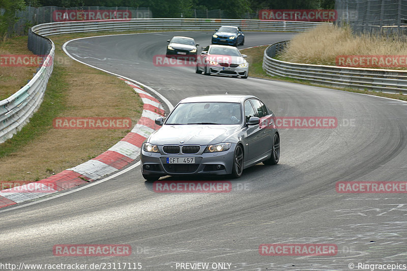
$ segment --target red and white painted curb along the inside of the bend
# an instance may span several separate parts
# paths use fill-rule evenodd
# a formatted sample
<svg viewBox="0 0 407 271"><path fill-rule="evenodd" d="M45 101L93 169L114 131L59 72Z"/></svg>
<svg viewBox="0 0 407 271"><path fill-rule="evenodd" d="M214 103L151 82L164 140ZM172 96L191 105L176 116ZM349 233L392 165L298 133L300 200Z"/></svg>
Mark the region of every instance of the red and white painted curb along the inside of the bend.
<svg viewBox="0 0 407 271"><path fill-rule="evenodd" d="M142 142L160 128L154 123L154 119L163 116L165 110L156 98L143 91L140 86L121 77L119 79L129 84L143 102L141 117L131 132L92 160L38 182L0 191L0 208L93 182L122 169L139 157Z"/></svg>

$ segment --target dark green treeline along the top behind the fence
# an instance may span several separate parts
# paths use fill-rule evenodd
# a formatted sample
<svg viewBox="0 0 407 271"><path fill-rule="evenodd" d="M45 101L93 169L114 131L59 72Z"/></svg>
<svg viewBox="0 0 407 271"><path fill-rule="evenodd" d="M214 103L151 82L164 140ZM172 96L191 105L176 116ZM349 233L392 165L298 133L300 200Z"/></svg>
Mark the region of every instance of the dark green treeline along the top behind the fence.
<svg viewBox="0 0 407 271"><path fill-rule="evenodd" d="M0 0L0 37L17 18L15 12L25 7L61 8L104 6L150 8L156 18L193 17L194 10L223 10L230 19L260 9L333 9L335 0Z"/></svg>

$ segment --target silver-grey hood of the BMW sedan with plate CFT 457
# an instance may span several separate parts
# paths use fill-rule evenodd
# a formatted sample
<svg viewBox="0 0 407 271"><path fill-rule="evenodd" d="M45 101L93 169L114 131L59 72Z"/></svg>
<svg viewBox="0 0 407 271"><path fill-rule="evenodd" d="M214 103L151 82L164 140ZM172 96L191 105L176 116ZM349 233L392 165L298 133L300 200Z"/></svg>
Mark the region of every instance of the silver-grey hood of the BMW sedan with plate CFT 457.
<svg viewBox="0 0 407 271"><path fill-rule="evenodd" d="M163 125L150 136L148 142L155 145L216 144L239 129L240 125ZM182 140L185 142L181 143Z"/></svg>

